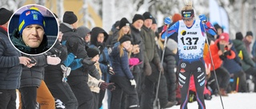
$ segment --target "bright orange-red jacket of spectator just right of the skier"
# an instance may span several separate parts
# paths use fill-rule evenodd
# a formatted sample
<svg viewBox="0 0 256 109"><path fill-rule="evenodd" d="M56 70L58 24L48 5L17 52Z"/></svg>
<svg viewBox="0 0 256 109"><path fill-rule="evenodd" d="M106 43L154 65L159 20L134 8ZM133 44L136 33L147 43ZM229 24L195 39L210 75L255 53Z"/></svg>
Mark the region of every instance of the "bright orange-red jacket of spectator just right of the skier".
<svg viewBox="0 0 256 109"><path fill-rule="evenodd" d="M210 52L211 56L213 56L213 61L214 61L214 68L220 68L222 65L222 59L218 55L218 40L215 41L214 45L210 45ZM231 55L226 56L228 59L234 59L235 53L234 51L230 50ZM206 61L206 64L211 64L210 60L210 53L208 52L206 56L204 57L204 60ZM213 71L213 65L211 64L210 71Z"/></svg>

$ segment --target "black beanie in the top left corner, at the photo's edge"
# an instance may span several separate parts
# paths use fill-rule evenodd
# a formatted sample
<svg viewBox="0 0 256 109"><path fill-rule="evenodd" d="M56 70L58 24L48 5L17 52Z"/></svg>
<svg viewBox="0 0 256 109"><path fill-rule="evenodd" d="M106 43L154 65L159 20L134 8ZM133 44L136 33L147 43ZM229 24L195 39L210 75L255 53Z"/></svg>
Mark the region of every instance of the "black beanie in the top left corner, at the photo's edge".
<svg viewBox="0 0 256 109"><path fill-rule="evenodd" d="M10 10L6 10L5 8L0 9L0 25L6 24L7 21L10 20L10 17L13 13Z"/></svg>

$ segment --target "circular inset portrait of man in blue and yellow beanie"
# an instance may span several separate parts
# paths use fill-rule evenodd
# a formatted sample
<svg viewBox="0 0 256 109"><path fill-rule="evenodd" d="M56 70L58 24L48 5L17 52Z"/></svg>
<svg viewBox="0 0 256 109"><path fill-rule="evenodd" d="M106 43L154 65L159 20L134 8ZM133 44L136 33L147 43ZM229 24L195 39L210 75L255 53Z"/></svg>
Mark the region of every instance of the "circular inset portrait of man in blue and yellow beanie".
<svg viewBox="0 0 256 109"><path fill-rule="evenodd" d="M46 7L26 5L10 18L8 33L12 45L19 52L40 55L51 49L58 40L58 22Z"/></svg>

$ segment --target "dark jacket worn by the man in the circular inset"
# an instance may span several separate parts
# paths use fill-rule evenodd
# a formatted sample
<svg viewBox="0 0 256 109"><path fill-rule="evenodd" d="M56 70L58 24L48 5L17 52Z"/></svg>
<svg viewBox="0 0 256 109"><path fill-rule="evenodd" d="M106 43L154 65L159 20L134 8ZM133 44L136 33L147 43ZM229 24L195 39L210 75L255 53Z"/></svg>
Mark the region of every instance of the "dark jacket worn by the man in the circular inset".
<svg viewBox="0 0 256 109"><path fill-rule="evenodd" d="M42 42L38 46L38 48L30 48L29 46L26 46L26 44L22 40L22 34L18 33L18 29L14 30L14 33L11 37L11 41L13 42L14 46L20 51L22 51L23 53L38 54L38 53L43 53L48 49L46 34L43 35Z"/></svg>

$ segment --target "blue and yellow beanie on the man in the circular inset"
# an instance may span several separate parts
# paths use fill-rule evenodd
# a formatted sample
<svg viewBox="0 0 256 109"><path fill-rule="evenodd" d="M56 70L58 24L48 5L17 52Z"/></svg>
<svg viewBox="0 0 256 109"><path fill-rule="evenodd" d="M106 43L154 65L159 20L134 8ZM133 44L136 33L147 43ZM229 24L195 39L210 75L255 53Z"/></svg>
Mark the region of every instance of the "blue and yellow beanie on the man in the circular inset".
<svg viewBox="0 0 256 109"><path fill-rule="evenodd" d="M18 20L18 31L22 34L23 29L27 25L41 25L44 30L46 30L46 21L42 14L39 12L38 8L31 7L30 10L25 10L19 16Z"/></svg>

